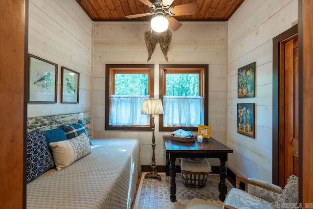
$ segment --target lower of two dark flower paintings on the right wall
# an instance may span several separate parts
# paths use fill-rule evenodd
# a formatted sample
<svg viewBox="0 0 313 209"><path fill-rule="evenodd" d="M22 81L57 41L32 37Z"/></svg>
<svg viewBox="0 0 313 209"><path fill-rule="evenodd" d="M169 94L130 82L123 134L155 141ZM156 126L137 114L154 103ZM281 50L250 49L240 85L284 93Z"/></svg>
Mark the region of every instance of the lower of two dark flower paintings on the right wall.
<svg viewBox="0 0 313 209"><path fill-rule="evenodd" d="M237 133L255 138L254 103L237 104Z"/></svg>

